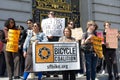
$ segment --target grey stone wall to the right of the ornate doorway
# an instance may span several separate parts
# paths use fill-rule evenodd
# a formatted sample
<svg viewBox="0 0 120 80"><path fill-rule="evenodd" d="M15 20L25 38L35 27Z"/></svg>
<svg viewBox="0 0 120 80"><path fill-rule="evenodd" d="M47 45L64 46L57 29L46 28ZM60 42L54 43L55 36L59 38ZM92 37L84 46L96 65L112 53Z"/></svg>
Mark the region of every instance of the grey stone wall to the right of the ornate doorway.
<svg viewBox="0 0 120 80"><path fill-rule="evenodd" d="M104 21L110 21L112 28L120 30L120 0L79 0L81 27L85 31L88 20L94 20L103 30ZM117 62L120 68L120 41L117 49ZM120 72L120 69L119 69Z"/></svg>

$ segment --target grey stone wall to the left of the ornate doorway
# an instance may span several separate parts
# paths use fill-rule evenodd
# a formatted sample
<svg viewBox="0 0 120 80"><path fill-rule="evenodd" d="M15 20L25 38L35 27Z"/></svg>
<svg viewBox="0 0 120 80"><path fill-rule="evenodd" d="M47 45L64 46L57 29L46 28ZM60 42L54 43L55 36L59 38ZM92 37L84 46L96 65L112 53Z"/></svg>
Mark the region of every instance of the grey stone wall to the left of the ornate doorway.
<svg viewBox="0 0 120 80"><path fill-rule="evenodd" d="M17 25L26 26L32 18L32 0L0 0L0 29L8 18L14 18Z"/></svg>

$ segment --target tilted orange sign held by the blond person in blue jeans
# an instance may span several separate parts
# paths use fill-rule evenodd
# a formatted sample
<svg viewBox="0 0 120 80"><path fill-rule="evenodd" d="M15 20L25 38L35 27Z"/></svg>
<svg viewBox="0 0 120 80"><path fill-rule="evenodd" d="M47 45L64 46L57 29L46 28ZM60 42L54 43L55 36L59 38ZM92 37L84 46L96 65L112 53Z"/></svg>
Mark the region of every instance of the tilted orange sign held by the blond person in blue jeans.
<svg viewBox="0 0 120 80"><path fill-rule="evenodd" d="M94 36L92 40L95 53L98 55L99 58L103 58L102 38Z"/></svg>

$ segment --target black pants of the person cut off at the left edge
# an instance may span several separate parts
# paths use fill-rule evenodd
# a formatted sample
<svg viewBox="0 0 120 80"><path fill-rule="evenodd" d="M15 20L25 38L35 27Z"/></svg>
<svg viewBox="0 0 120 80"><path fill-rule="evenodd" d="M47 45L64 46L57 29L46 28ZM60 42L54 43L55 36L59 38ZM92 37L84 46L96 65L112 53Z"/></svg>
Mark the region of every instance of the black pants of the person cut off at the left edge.
<svg viewBox="0 0 120 80"><path fill-rule="evenodd" d="M5 62L4 52L0 52L0 76L5 75L5 70L6 70L6 62Z"/></svg>

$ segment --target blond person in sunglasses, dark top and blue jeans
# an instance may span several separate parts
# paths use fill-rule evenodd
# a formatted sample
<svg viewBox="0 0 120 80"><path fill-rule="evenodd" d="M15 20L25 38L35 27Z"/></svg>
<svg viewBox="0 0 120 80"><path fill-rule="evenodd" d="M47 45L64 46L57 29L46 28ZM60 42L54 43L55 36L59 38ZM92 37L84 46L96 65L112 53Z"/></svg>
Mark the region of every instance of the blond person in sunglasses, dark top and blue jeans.
<svg viewBox="0 0 120 80"><path fill-rule="evenodd" d="M86 61L86 80L95 80L97 55L93 49L92 37L96 36L98 26L94 21L87 22L87 31L81 39L81 46L85 46L85 61Z"/></svg>

